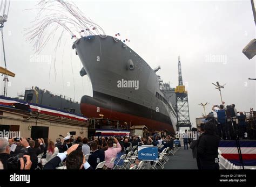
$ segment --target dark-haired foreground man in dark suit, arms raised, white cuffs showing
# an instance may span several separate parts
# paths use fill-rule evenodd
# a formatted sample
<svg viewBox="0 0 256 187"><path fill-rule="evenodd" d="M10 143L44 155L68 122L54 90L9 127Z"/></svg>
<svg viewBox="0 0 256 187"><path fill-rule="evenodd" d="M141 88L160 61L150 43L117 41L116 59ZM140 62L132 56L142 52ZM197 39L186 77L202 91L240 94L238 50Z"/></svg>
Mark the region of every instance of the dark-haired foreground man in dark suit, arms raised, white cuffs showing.
<svg viewBox="0 0 256 187"><path fill-rule="evenodd" d="M71 146L64 153L58 153L53 159L45 164L43 169L56 169L60 162L66 159L67 169L93 169L88 162L86 162L82 150L77 149L78 144Z"/></svg>

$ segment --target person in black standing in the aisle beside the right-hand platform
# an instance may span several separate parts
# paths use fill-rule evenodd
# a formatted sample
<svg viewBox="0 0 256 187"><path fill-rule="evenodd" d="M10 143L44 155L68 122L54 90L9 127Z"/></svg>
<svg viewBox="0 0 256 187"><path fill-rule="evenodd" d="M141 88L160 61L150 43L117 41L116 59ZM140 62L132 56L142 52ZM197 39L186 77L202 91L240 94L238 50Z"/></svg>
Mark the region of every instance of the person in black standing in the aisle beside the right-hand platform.
<svg viewBox="0 0 256 187"><path fill-rule="evenodd" d="M209 119L205 124L205 132L198 141L197 155L201 169L219 169L218 147L220 138L215 134L215 120Z"/></svg>

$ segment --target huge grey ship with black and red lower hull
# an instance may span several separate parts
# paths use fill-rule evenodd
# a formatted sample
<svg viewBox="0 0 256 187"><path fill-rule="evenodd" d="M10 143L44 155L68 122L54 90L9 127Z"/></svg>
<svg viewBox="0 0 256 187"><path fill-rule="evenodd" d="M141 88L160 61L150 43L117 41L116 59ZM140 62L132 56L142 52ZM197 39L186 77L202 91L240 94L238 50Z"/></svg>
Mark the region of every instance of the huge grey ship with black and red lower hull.
<svg viewBox="0 0 256 187"><path fill-rule="evenodd" d="M150 131L176 132L177 114L161 90L160 68L152 69L143 58L118 38L89 35L72 46L90 78L93 97L80 100L81 113L89 118L145 125Z"/></svg>

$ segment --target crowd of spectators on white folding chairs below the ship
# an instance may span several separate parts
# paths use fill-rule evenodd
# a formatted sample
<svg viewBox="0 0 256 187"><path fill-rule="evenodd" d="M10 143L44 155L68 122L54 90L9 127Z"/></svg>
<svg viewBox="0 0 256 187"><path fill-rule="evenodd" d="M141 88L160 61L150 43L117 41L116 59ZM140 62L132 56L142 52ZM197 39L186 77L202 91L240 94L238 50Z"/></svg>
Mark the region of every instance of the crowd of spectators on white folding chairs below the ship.
<svg viewBox="0 0 256 187"><path fill-rule="evenodd" d="M90 140L78 136L57 138L55 142L48 138L0 139L0 169L56 169L62 163L66 169L96 169L100 162L105 161L102 169L113 169L122 166L120 157L131 152L135 146L158 146L159 152L173 147L174 138L170 135L160 136L154 133L147 138L134 136L97 137ZM134 150L133 150L134 151ZM89 155L85 159L85 155ZM111 160L116 157L116 160ZM138 164L137 159L131 166Z"/></svg>

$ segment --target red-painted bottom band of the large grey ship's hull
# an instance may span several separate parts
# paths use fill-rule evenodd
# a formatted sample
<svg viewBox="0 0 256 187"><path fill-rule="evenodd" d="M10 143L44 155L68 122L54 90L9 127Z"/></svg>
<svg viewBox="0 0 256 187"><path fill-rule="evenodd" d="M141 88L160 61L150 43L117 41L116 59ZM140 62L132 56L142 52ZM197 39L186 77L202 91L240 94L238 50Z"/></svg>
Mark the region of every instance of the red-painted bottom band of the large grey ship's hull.
<svg viewBox="0 0 256 187"><path fill-rule="evenodd" d="M160 121L104 109L102 107L100 107L100 111L97 112L97 106L87 103L81 103L80 107L82 114L89 118L100 118L99 114L103 114L104 119L126 121L127 125L131 124L130 126L145 125L150 132L168 130L173 134L175 133L173 127L170 124L162 123Z"/></svg>

